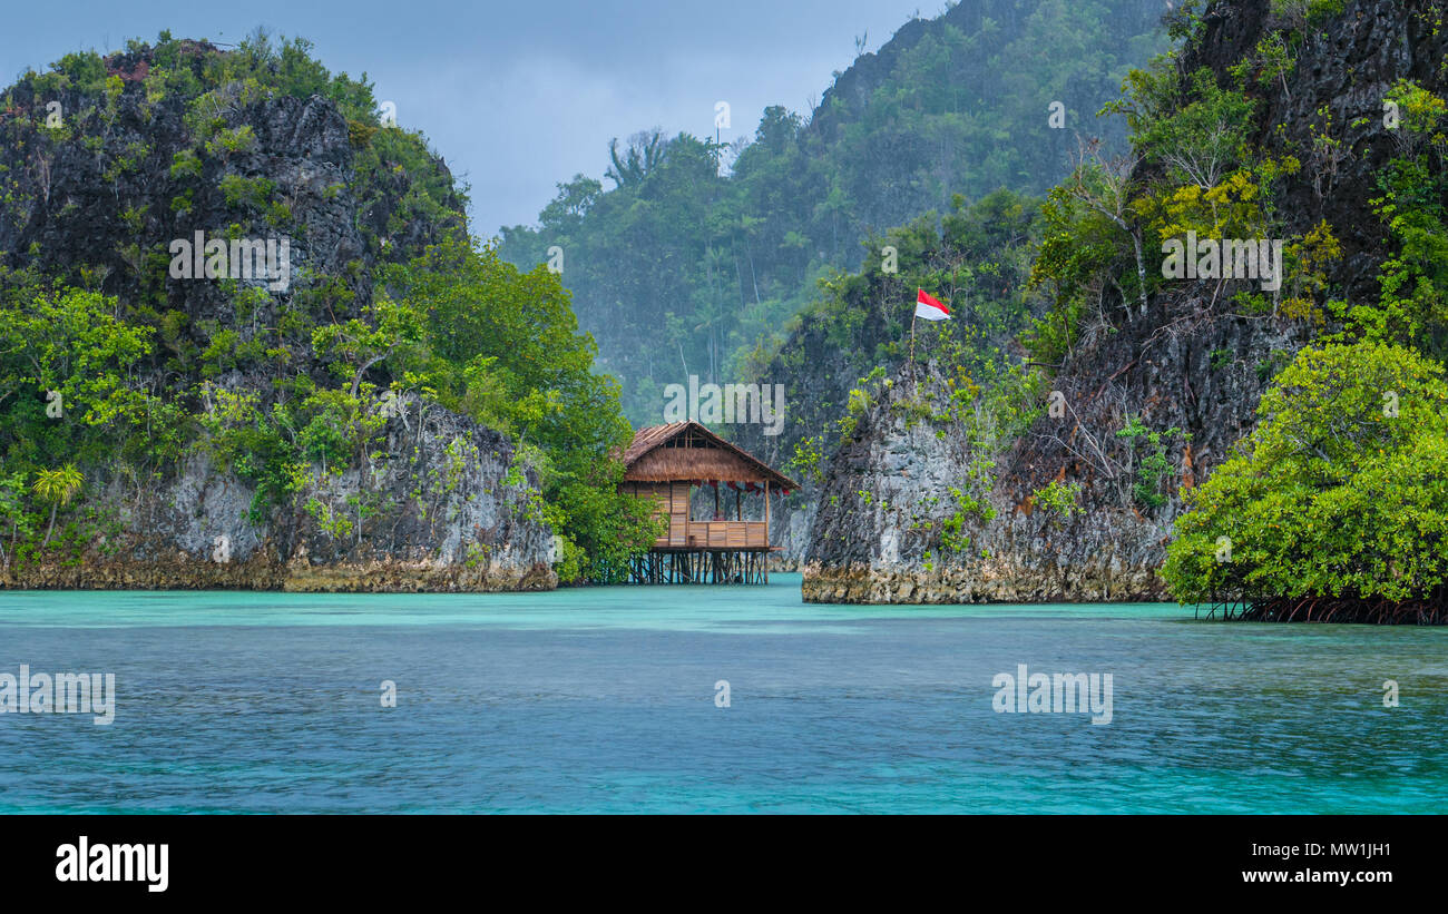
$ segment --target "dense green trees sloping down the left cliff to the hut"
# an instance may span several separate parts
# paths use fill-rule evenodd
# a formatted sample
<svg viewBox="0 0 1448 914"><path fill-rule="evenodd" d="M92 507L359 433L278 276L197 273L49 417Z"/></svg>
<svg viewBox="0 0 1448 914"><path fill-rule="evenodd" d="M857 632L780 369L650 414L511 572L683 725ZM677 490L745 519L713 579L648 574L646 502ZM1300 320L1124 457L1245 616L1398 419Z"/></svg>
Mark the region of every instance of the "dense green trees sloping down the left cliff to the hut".
<svg viewBox="0 0 1448 914"><path fill-rule="evenodd" d="M568 542L560 573L617 578L654 529L649 505L618 492L617 453L633 430L618 383L594 372L597 347L557 275L520 272L491 244L455 239L388 270L385 283L426 334L394 372L426 376L443 406L508 432L529 456L544 518Z"/></svg>

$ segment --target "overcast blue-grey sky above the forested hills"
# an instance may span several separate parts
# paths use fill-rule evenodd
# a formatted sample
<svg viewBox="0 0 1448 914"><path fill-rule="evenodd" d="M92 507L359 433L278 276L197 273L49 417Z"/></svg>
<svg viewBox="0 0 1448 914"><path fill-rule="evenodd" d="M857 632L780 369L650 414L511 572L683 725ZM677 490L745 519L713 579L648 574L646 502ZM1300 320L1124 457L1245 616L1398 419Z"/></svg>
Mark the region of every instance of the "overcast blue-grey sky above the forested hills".
<svg viewBox="0 0 1448 914"><path fill-rule="evenodd" d="M602 178L608 140L646 127L753 134L766 106L804 111L854 58L876 51L917 10L944 0L355 0L14 4L0 29L0 81L71 51L130 38L235 43L256 26L316 43L333 72L366 71L400 126L420 129L472 185L473 231L531 224L555 185Z"/></svg>

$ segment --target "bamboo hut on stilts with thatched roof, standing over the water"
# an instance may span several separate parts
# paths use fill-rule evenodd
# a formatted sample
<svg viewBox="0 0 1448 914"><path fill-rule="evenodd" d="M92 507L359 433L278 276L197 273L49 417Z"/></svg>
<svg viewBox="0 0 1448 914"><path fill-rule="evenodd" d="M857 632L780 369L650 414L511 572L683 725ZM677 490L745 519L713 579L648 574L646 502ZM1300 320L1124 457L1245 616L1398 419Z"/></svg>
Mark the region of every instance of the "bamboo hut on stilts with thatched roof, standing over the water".
<svg viewBox="0 0 1448 914"><path fill-rule="evenodd" d="M769 583L769 554L779 550L769 539L769 499L799 483L698 422L640 428L624 466L623 490L653 499L656 513L669 518L653 548L634 560L634 583ZM694 519L689 505L704 487L714 489L714 516ZM727 492L734 496L733 512ZM744 519L746 495L763 496L763 521Z"/></svg>

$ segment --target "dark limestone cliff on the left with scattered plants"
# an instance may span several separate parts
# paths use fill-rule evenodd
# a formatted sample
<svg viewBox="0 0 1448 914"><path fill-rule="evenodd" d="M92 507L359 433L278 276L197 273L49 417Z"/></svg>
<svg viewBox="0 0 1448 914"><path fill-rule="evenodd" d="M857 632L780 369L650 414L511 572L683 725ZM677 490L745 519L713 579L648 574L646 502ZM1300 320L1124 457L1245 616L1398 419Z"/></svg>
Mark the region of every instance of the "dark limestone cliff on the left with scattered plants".
<svg viewBox="0 0 1448 914"><path fill-rule="evenodd" d="M214 415L223 395L253 396L268 415L339 383L353 396L362 380L385 390L387 364L353 380L353 367L320 354L314 328L369 320L379 270L465 230L463 200L417 134L349 119L320 65L282 58L295 72L278 81L316 85L297 97L217 78L227 54L133 42L12 87L0 110L3 265L114 296L119 317L156 341L135 383L191 415ZM288 281L177 278L171 244L195 233L285 240ZM539 480L508 438L411 395L382 408L374 447L281 500L258 499L237 471L259 456L219 461L194 430L174 460L80 456L80 541L65 558L12 561L9 550L0 587L556 586Z"/></svg>

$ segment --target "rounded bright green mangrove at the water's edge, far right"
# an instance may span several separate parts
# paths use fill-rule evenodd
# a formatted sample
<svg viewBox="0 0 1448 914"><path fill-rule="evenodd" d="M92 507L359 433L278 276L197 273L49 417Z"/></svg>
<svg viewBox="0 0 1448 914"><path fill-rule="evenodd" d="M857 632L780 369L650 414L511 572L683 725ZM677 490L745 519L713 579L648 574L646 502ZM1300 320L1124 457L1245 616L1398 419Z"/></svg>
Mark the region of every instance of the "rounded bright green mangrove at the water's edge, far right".
<svg viewBox="0 0 1448 914"><path fill-rule="evenodd" d="M1448 383L1387 343L1303 349L1260 422L1186 502L1163 577L1183 603L1442 607Z"/></svg>

